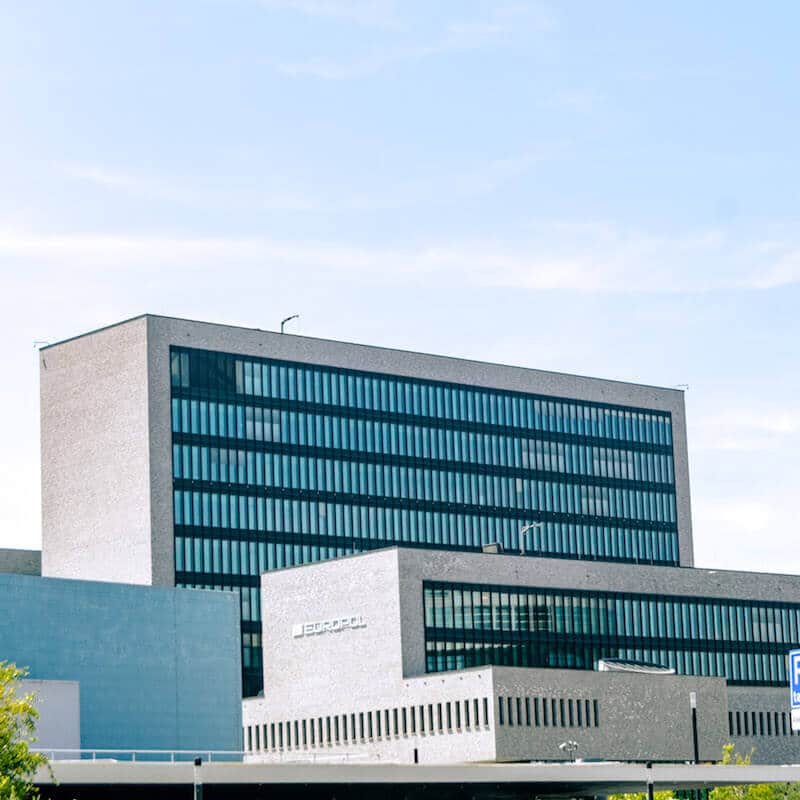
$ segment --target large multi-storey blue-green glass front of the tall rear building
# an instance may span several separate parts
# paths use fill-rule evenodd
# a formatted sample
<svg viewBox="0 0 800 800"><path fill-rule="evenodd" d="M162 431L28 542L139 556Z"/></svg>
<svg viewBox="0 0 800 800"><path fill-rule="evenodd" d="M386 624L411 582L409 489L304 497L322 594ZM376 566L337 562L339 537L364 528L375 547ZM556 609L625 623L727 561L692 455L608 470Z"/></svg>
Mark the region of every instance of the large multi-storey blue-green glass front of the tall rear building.
<svg viewBox="0 0 800 800"><path fill-rule="evenodd" d="M171 349L176 582L233 588L260 689L258 575L391 544L677 564L670 415Z"/></svg>

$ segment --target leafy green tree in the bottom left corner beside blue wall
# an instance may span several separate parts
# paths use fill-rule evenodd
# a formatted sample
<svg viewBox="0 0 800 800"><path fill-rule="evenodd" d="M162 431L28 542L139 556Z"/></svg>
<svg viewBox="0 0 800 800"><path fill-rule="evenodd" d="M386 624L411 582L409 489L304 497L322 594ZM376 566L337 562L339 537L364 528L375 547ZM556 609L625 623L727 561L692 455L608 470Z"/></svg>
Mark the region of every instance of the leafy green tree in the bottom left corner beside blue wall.
<svg viewBox="0 0 800 800"><path fill-rule="evenodd" d="M36 741L39 712L32 694L18 694L24 669L0 661L0 800L29 800L39 796L31 783L36 769L47 763L30 750Z"/></svg>

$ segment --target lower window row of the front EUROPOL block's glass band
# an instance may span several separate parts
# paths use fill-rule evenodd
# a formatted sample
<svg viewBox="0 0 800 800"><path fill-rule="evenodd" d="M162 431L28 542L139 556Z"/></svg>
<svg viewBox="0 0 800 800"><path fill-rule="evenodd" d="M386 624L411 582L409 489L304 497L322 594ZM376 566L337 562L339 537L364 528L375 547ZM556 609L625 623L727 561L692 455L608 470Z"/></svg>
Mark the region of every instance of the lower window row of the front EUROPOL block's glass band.
<svg viewBox="0 0 800 800"><path fill-rule="evenodd" d="M729 683L754 686L784 686L786 684L786 654L774 646L727 645L716 648L714 643L660 643L654 647L610 641L598 644L589 637L563 637L559 641L537 639L489 641L478 634L472 638L455 639L427 632L426 671L481 667L489 664L513 667L558 669L596 669L601 658L622 658L647 661L671 667L679 675L724 677ZM510 637L509 637L510 639Z"/></svg>

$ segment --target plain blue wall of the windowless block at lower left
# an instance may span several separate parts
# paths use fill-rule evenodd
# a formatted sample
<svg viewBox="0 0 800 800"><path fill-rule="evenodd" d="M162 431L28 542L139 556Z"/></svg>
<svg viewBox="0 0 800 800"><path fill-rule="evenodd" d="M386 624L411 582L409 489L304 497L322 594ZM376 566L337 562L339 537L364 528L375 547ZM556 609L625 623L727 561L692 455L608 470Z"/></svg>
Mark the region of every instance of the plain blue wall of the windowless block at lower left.
<svg viewBox="0 0 800 800"><path fill-rule="evenodd" d="M81 746L241 749L233 592L0 575L0 661L80 681Z"/></svg>

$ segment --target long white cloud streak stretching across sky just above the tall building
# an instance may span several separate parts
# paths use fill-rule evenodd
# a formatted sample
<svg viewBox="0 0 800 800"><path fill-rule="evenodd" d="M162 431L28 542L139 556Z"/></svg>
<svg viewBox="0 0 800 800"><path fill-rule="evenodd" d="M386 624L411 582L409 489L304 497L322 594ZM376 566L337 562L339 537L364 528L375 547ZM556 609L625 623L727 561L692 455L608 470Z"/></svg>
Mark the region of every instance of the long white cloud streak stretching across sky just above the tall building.
<svg viewBox="0 0 800 800"><path fill-rule="evenodd" d="M786 244L800 252L800 243ZM541 223L522 238L378 247L258 236L45 234L0 229L0 263L53 262L73 269L98 265L340 272L373 284L425 277L432 285L578 292L702 292L760 289L773 256L717 231L683 237L623 233L608 225ZM784 257L777 254L777 257ZM771 424L776 424L775 420ZM780 424L789 424L786 421Z"/></svg>

